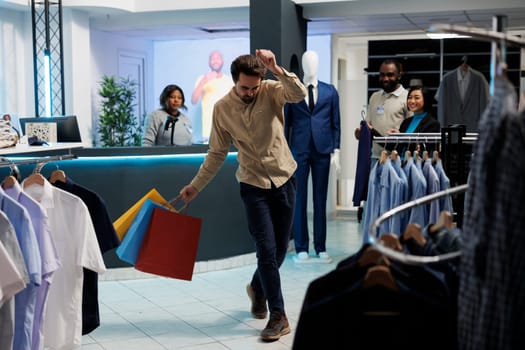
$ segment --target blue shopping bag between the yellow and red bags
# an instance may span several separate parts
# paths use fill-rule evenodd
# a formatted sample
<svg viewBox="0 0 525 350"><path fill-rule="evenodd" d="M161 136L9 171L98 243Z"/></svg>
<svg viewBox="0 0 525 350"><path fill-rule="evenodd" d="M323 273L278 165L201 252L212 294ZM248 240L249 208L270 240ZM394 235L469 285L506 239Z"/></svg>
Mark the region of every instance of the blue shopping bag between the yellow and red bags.
<svg viewBox="0 0 525 350"><path fill-rule="evenodd" d="M144 236L148 232L153 209L155 208L165 208L165 206L149 198L144 201L120 246L117 248L116 253L120 260L135 265Z"/></svg>

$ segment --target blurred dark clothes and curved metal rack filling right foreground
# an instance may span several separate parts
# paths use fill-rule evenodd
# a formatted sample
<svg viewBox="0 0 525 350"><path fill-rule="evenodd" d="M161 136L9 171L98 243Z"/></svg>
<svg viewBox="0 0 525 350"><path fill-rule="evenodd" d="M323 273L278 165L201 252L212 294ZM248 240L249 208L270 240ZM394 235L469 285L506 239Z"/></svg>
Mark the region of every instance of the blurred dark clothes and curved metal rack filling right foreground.
<svg viewBox="0 0 525 350"><path fill-rule="evenodd" d="M525 47L525 40L500 34L488 37ZM480 119L468 185L378 215L370 244L310 283L293 349L525 348L525 156L520 152L525 111L517 111L514 87L504 74L494 86ZM397 214L461 191L467 191L462 232L440 214L437 226L421 230L408 224L402 236L385 233L376 239L376 231L383 232L382 225Z"/></svg>

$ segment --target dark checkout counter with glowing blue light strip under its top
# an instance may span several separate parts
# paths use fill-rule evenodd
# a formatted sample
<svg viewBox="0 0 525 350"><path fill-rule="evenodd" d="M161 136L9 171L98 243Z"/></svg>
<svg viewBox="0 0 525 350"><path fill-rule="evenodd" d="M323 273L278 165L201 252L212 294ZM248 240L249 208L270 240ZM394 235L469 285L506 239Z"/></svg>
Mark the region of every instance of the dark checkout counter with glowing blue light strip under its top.
<svg viewBox="0 0 525 350"><path fill-rule="evenodd" d="M74 182L98 193L114 221L152 188L168 200L175 198L196 174L207 150L207 145L111 148L63 145L57 149L41 148L36 153L26 150L22 155L10 152L14 154L8 157L74 155L73 159L51 161L40 172L47 178L53 170L61 169ZM232 149L216 177L187 208L186 214L202 218L197 262L255 251L235 178L236 157ZM22 177L31 174L34 167L35 164L18 166ZM3 176L8 175L9 169L4 172ZM104 254L104 261L108 268L129 266L114 250Z"/></svg>

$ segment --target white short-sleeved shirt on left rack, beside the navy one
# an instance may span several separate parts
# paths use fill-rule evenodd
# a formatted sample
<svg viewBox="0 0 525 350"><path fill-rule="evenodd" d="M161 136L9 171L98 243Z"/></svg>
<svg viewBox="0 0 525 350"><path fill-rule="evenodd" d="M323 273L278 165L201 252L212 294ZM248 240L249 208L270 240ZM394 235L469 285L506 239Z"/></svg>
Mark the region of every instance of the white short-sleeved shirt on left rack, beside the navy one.
<svg viewBox="0 0 525 350"><path fill-rule="evenodd" d="M22 183L22 186L24 183ZM44 206L62 266L53 282L44 316L44 346L73 349L82 342L83 268L104 273L106 267L84 202L52 186L32 184L24 191Z"/></svg>

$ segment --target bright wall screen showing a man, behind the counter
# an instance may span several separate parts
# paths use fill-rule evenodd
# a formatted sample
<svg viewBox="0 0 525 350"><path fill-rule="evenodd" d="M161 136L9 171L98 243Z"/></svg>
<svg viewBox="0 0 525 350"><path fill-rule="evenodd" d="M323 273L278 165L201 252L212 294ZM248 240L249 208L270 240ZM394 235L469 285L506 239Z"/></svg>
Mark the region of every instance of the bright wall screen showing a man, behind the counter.
<svg viewBox="0 0 525 350"><path fill-rule="evenodd" d="M330 37L309 37L307 49L319 54L319 80L330 82ZM154 53L155 88L151 97L155 100L152 105L155 109L160 107L159 96L166 85L179 85L188 108L182 112L192 120L194 142L206 143L213 105L233 86L230 65L239 55L251 53L250 39L156 42Z"/></svg>

